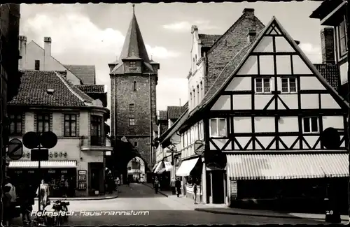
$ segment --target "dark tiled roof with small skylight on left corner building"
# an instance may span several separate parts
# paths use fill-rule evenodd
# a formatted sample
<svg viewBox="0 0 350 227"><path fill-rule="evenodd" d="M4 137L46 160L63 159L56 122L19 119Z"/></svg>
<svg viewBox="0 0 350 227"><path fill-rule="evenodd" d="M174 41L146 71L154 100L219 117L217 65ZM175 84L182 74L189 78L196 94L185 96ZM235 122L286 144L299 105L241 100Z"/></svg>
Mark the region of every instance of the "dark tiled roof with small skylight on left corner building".
<svg viewBox="0 0 350 227"><path fill-rule="evenodd" d="M66 80L57 71L23 70L18 95L9 105L39 105L50 107L82 107L91 105L93 99ZM48 94L48 89L53 89Z"/></svg>

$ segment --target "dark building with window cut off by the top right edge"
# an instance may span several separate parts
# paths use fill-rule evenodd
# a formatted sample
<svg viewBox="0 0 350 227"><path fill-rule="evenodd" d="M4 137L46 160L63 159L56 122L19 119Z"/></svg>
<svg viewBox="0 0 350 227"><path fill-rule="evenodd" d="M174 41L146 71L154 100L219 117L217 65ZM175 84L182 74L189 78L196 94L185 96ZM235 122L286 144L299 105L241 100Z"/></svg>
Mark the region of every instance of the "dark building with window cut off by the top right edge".
<svg viewBox="0 0 350 227"><path fill-rule="evenodd" d="M319 19L324 28L321 31L321 47L323 61L335 64L339 68L339 94L348 100L348 40L346 15L347 1L325 0L310 15ZM325 63L325 62L324 62ZM349 100L348 100L349 101Z"/></svg>

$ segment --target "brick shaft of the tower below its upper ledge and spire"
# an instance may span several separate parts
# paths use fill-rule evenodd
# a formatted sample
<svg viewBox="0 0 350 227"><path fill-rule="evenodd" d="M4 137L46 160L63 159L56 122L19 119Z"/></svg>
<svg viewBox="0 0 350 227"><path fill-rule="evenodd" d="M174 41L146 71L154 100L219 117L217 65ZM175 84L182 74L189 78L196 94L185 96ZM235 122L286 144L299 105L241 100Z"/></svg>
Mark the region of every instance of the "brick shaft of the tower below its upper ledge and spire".
<svg viewBox="0 0 350 227"><path fill-rule="evenodd" d="M134 91L137 82L137 91ZM111 131L112 136L127 136L132 145L138 142L137 150L141 156L151 162L150 117L155 123L157 118L155 75L113 75L111 76ZM150 96L151 108L150 110ZM134 104L134 111L130 111ZM129 126L129 118L135 119L135 125Z"/></svg>

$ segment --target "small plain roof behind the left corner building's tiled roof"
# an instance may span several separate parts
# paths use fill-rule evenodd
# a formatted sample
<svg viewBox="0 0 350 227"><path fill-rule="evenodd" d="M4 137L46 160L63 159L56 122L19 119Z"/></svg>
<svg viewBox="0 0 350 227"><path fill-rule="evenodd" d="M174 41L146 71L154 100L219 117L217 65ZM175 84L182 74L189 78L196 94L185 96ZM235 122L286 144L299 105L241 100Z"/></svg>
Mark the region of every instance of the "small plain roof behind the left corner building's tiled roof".
<svg viewBox="0 0 350 227"><path fill-rule="evenodd" d="M94 85L96 84L96 70L92 65L63 65L71 73L76 75L83 85Z"/></svg>

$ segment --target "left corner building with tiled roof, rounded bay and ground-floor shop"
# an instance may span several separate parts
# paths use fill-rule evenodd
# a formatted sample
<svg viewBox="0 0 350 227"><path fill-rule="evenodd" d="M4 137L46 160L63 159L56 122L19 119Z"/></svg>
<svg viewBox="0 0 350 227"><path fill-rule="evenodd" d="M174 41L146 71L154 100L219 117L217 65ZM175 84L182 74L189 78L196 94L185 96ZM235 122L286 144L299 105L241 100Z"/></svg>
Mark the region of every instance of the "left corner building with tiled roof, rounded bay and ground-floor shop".
<svg viewBox="0 0 350 227"><path fill-rule="evenodd" d="M8 175L15 184L44 179L52 196L59 193L63 175L69 181L69 196L87 196L104 192L104 157L106 146L104 122L109 110L101 102L77 89L66 80L66 72L22 71L20 91L10 102L10 138L22 140L29 131L52 131L58 142L49 150L49 160L31 161L30 149L23 147L19 161L8 159ZM34 96L34 97L33 97Z"/></svg>

